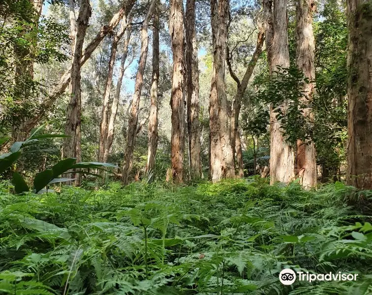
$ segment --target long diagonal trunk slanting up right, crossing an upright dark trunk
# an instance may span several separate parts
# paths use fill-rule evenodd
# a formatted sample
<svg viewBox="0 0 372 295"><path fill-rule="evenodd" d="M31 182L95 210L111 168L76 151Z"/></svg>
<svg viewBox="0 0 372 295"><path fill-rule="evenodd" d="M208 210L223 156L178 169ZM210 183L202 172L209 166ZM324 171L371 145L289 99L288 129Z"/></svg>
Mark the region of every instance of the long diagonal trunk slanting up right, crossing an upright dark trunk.
<svg viewBox="0 0 372 295"><path fill-rule="evenodd" d="M37 1L37 0L35 0ZM97 35L93 38L93 40L88 44L83 52L83 56L81 58L82 66L92 55L93 51L97 48L103 38L111 32L123 18L123 16L127 16L134 5L135 0L128 0L125 1L122 6L120 7L119 11L112 17L110 22L107 25L104 25ZM41 7L41 6L40 6ZM41 8L40 8L41 12ZM59 83L50 91L48 99L42 102L41 107L37 114L25 122L22 122L19 126L15 126L18 130L16 134L16 140L22 141L24 140L32 128L34 128L40 119L45 115L45 113L53 106L55 101L63 94L64 90L67 88L71 78L71 68L69 68L61 77Z"/></svg>

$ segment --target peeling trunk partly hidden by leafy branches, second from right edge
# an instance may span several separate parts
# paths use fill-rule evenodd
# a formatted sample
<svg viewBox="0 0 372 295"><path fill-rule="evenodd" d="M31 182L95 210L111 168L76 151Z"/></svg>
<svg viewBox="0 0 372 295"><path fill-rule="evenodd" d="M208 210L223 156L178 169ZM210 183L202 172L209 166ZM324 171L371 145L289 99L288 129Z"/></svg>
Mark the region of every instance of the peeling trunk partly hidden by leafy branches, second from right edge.
<svg viewBox="0 0 372 295"><path fill-rule="evenodd" d="M297 3L297 50L296 63L304 73L304 76L310 80L303 86L304 97L301 101L306 105L310 104L314 93L314 84L311 80L315 79L315 40L312 29L312 13L315 11L315 2L313 0L298 0ZM310 123L314 120L314 115L310 108L303 110L304 117ZM315 145L311 140L297 141L297 174L301 177L300 183L310 188L316 185L317 168Z"/></svg>

